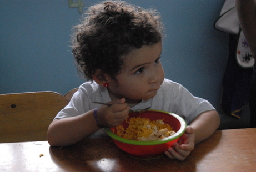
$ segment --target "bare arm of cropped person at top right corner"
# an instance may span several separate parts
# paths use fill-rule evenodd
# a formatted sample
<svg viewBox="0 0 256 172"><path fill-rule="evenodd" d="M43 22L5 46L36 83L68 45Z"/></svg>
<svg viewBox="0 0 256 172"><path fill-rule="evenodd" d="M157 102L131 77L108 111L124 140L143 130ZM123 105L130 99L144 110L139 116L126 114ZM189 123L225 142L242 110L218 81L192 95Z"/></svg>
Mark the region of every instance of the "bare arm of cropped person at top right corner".
<svg viewBox="0 0 256 172"><path fill-rule="evenodd" d="M256 0L236 0L240 26L256 60Z"/></svg>

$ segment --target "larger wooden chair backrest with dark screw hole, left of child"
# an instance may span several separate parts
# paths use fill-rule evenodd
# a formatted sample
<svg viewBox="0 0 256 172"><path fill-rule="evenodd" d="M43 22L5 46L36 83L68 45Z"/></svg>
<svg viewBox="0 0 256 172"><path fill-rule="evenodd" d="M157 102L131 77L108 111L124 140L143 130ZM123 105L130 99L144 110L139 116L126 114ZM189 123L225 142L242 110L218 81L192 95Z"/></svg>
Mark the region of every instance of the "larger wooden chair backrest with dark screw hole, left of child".
<svg viewBox="0 0 256 172"><path fill-rule="evenodd" d="M68 100L56 92L0 94L0 143L47 140L47 129Z"/></svg>

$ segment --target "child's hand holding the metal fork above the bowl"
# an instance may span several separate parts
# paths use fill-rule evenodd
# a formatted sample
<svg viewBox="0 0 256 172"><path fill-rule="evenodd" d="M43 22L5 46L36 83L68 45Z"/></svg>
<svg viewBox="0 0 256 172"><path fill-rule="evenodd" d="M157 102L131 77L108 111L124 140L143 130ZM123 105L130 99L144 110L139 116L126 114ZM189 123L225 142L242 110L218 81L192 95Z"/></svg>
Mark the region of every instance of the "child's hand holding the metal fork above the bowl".
<svg viewBox="0 0 256 172"><path fill-rule="evenodd" d="M103 105L97 110L97 117L99 123L104 127L116 127L119 124L122 124L123 121L127 118L129 114L130 107L125 103L124 98L114 100L111 106Z"/></svg>

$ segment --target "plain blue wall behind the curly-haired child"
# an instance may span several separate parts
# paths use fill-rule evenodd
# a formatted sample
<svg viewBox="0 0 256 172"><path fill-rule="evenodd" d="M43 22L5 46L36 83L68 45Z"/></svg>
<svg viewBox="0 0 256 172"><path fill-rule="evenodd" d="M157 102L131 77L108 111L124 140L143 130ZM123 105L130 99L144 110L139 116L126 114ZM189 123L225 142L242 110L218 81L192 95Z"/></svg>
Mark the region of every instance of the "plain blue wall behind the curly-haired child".
<svg viewBox="0 0 256 172"><path fill-rule="evenodd" d="M83 9L98 2L82 1ZM162 53L165 77L219 109L228 35L213 24L224 0L129 2L162 14L167 36ZM68 1L1 1L0 94L42 90L65 94L83 83L69 47L71 28L80 17Z"/></svg>

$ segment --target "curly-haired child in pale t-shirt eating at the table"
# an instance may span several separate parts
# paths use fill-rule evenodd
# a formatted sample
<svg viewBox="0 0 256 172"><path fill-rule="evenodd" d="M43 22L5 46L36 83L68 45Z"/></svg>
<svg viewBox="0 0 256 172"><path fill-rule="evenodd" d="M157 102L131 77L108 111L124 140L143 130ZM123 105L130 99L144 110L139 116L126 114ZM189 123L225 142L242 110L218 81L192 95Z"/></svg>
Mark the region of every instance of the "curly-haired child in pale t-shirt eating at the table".
<svg viewBox="0 0 256 172"><path fill-rule="evenodd" d="M162 31L155 11L120 1L90 7L73 39L74 57L89 82L49 126L49 144L67 146L106 135L102 127L121 124L130 108L147 107L178 114L188 124L179 143L165 152L171 159L184 160L194 144L212 135L220 123L212 105L164 79Z"/></svg>

